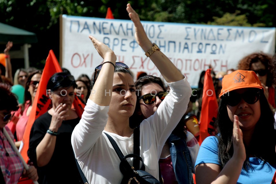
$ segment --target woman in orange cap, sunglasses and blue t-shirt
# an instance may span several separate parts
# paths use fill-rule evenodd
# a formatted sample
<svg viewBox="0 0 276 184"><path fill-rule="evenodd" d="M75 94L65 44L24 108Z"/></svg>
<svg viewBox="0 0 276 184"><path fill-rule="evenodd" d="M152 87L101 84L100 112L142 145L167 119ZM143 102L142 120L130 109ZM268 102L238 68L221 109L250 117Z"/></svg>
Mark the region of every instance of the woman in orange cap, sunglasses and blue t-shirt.
<svg viewBox="0 0 276 184"><path fill-rule="evenodd" d="M253 71L225 75L216 136L202 142L196 183L268 183L276 170L275 120Z"/></svg>

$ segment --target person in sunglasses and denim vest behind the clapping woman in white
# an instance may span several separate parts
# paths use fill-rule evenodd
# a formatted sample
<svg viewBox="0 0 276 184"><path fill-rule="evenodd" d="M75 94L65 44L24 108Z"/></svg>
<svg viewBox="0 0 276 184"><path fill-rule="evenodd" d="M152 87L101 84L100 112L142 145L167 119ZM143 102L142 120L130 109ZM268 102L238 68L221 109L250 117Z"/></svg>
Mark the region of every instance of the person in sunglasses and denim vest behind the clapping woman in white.
<svg viewBox="0 0 276 184"><path fill-rule="evenodd" d="M161 78L146 75L135 82L137 102L135 112L130 118L130 126L138 127L146 118L152 116L169 94ZM185 112L183 111L182 114ZM166 140L159 159L164 183L193 183L195 162L199 144L192 133L184 129L185 115Z"/></svg>

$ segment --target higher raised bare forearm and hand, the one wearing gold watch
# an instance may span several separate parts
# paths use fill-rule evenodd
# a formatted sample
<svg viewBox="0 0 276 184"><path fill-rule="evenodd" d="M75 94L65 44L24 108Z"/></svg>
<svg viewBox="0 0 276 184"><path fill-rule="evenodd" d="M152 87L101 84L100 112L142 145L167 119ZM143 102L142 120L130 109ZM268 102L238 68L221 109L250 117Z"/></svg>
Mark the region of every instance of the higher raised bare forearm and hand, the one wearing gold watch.
<svg viewBox="0 0 276 184"><path fill-rule="evenodd" d="M139 15L131 7L130 4L127 4L127 12L129 13L129 18L132 20L135 26L135 39L140 47L147 52L152 48L152 42L147 37L143 25L139 19ZM169 60L169 58L162 53L162 51L156 50L150 59L154 62L155 66L158 68L164 79L168 82L180 81L184 76L179 72L175 65Z"/></svg>

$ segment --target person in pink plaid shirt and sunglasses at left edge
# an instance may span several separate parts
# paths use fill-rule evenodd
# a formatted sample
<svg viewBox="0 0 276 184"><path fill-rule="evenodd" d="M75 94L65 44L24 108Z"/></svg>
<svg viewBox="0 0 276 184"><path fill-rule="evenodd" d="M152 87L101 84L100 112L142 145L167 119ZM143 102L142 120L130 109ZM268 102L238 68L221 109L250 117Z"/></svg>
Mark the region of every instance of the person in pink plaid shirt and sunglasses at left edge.
<svg viewBox="0 0 276 184"><path fill-rule="evenodd" d="M0 83L0 183L18 183L21 176L29 177L33 181L37 181L38 179L37 170L34 166L30 166L27 171L24 169L22 161L16 155L16 152L3 133L3 129L5 129L11 139L14 139L6 124L13 115L11 112L17 109L17 99L9 91L9 86Z"/></svg>

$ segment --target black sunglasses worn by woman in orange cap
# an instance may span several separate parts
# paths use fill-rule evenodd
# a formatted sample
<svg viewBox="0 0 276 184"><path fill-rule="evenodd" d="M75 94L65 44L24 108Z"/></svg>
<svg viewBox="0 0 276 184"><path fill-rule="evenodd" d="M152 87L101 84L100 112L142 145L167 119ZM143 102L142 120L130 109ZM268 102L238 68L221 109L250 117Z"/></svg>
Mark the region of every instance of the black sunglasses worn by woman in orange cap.
<svg viewBox="0 0 276 184"><path fill-rule="evenodd" d="M255 104L260 98L260 91L259 90L248 90L242 94L229 92L225 93L222 96L222 99L225 100L225 103L229 106L236 106L240 103L241 99L248 104Z"/></svg>

